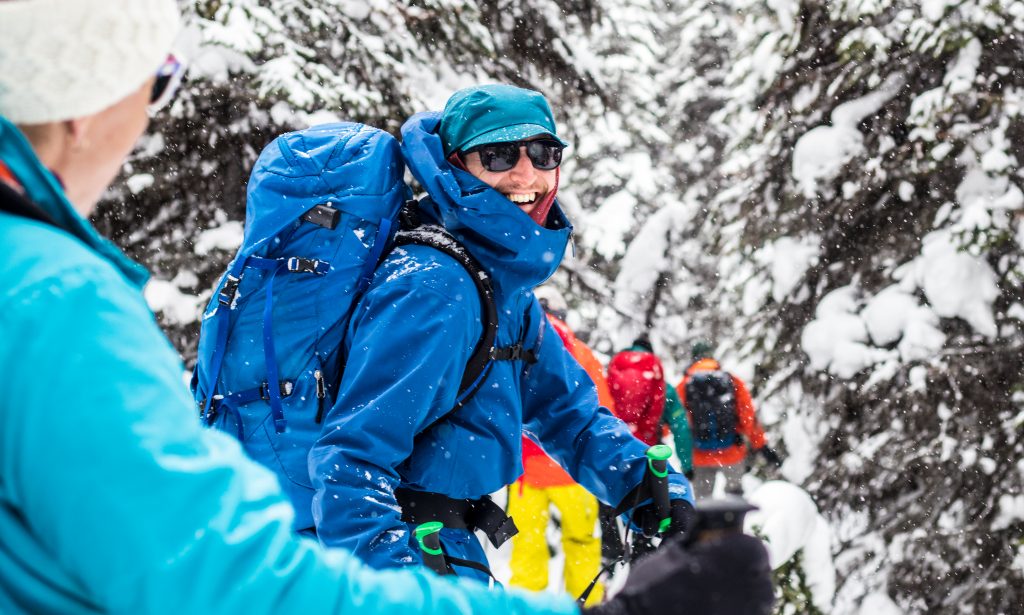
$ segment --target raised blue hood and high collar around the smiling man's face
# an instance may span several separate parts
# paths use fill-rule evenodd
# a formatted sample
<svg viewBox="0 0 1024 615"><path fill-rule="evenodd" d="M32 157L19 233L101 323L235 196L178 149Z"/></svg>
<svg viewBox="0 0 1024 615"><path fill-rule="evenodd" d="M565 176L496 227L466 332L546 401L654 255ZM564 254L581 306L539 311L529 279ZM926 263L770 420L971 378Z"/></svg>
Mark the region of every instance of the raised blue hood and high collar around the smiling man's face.
<svg viewBox="0 0 1024 615"><path fill-rule="evenodd" d="M421 216L455 235L504 295L551 277L572 233L557 200L547 226L537 224L501 192L447 163L439 123L439 113L427 112L401 127L406 164L430 195L420 202Z"/></svg>

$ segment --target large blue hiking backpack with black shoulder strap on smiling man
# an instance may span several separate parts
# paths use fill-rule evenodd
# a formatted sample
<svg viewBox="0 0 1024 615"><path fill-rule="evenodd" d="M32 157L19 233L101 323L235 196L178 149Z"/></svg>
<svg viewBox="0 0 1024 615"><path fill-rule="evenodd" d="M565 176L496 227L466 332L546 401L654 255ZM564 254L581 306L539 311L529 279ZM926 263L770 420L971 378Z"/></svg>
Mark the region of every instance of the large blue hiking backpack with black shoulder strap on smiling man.
<svg viewBox="0 0 1024 615"><path fill-rule="evenodd" d="M411 194L403 172L394 137L361 124L274 139L249 180L242 247L203 315L191 384L201 416L276 472L296 502L312 489L306 455L337 396L349 316L392 248L445 252L477 283L483 333L449 414L489 371L497 330L489 277L443 229L416 223L415 210L403 207Z"/></svg>

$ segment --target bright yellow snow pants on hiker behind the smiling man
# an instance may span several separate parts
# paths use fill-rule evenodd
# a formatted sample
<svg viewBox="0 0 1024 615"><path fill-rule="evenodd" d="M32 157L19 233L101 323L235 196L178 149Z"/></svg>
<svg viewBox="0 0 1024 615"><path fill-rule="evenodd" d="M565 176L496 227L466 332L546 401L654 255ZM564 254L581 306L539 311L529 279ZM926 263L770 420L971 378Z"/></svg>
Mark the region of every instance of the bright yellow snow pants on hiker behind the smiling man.
<svg viewBox="0 0 1024 615"><path fill-rule="evenodd" d="M548 518L554 504L561 514L565 553L565 590L578 598L601 569L601 539L596 537L597 498L580 485L538 489L522 483L509 487L508 514L519 533L512 538L511 584L541 590L548 586ZM601 602L598 583L587 605Z"/></svg>

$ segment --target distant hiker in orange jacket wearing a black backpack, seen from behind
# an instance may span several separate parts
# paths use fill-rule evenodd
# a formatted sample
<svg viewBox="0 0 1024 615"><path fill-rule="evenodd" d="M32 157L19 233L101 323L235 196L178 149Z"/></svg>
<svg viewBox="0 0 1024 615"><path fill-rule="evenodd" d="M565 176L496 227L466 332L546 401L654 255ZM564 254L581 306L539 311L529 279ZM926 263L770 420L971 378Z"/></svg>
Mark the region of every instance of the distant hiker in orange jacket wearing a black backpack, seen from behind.
<svg viewBox="0 0 1024 615"><path fill-rule="evenodd" d="M698 499L711 496L719 474L725 477L727 493L742 493L740 479L749 449L780 464L778 455L766 446L746 385L723 370L711 351L708 342L693 345L693 362L676 387L690 419L693 491Z"/></svg>

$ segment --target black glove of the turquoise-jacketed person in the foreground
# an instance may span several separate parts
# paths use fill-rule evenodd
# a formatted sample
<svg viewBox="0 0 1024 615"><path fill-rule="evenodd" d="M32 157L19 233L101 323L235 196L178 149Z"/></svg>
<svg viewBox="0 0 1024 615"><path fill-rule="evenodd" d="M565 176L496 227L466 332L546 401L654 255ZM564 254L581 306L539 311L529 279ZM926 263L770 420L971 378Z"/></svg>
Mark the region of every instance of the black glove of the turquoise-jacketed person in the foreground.
<svg viewBox="0 0 1024 615"><path fill-rule="evenodd" d="M638 561L623 590L587 615L768 615L775 600L768 552L728 533L690 547L679 539Z"/></svg>

